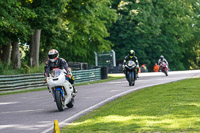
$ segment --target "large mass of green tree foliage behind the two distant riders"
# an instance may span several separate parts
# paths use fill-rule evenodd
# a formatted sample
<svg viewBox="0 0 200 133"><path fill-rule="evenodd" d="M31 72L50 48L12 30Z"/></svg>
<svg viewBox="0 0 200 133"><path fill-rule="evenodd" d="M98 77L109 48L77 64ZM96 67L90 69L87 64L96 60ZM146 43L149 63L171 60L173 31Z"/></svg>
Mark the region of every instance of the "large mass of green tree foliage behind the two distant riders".
<svg viewBox="0 0 200 133"><path fill-rule="evenodd" d="M134 49L140 64L147 64L150 70L160 55L166 57L171 70L188 69L192 49L199 45L191 44L197 40L195 34L199 35L197 9L195 0L121 0L119 19L110 29L117 58L123 59Z"/></svg>

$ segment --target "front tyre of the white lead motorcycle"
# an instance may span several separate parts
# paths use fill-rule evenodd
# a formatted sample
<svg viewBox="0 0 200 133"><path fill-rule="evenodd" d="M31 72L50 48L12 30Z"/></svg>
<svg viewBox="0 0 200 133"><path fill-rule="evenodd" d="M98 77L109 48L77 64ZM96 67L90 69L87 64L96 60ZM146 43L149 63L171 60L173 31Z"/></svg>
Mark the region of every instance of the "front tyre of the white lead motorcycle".
<svg viewBox="0 0 200 133"><path fill-rule="evenodd" d="M64 110L64 100L63 100L61 92L59 90L56 90L56 92L55 92L55 101L56 101L58 110L63 111Z"/></svg>

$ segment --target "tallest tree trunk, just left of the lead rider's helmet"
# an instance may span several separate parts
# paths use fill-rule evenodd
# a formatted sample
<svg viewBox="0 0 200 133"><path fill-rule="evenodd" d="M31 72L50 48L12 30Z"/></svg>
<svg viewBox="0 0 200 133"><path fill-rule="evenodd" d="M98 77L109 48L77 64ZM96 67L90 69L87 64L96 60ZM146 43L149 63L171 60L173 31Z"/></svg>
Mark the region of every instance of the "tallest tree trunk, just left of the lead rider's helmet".
<svg viewBox="0 0 200 133"><path fill-rule="evenodd" d="M39 53L40 53L40 35L41 30L36 29L31 38L30 45L30 66L39 66Z"/></svg>

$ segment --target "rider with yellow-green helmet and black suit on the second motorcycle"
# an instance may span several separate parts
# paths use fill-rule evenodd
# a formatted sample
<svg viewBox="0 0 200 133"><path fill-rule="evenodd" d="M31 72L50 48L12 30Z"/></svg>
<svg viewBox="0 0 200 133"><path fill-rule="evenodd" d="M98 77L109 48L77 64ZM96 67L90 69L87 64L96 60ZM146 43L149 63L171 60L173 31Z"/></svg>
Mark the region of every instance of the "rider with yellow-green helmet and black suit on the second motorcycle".
<svg viewBox="0 0 200 133"><path fill-rule="evenodd" d="M122 66L122 67L123 67L123 71L124 71L124 73L125 73L126 75L127 75L127 73L126 73L126 71L125 71L125 64L126 64L129 60L132 60L132 61L134 61L134 62L136 63L136 69L135 69L136 75L134 75L134 76L138 77L139 62L138 62L137 57L135 56L135 51L134 51L134 50L130 50L130 51L129 51L129 54L125 57L124 62L123 62L123 66ZM134 77L134 78L137 79L136 77Z"/></svg>

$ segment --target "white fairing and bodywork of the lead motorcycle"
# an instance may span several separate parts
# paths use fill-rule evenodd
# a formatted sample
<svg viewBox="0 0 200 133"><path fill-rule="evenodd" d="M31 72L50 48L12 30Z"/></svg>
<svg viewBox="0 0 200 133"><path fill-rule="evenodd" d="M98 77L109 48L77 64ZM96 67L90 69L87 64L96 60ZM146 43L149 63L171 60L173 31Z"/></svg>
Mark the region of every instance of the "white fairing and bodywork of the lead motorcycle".
<svg viewBox="0 0 200 133"><path fill-rule="evenodd" d="M71 83L66 80L66 71L63 69L56 69L53 71L57 71L56 73L50 73L50 77L47 77L47 86L51 90L51 93L54 97L54 89L55 87L63 88L64 98L65 98L65 106L68 104L73 98L73 86ZM59 72L58 72L59 71Z"/></svg>

